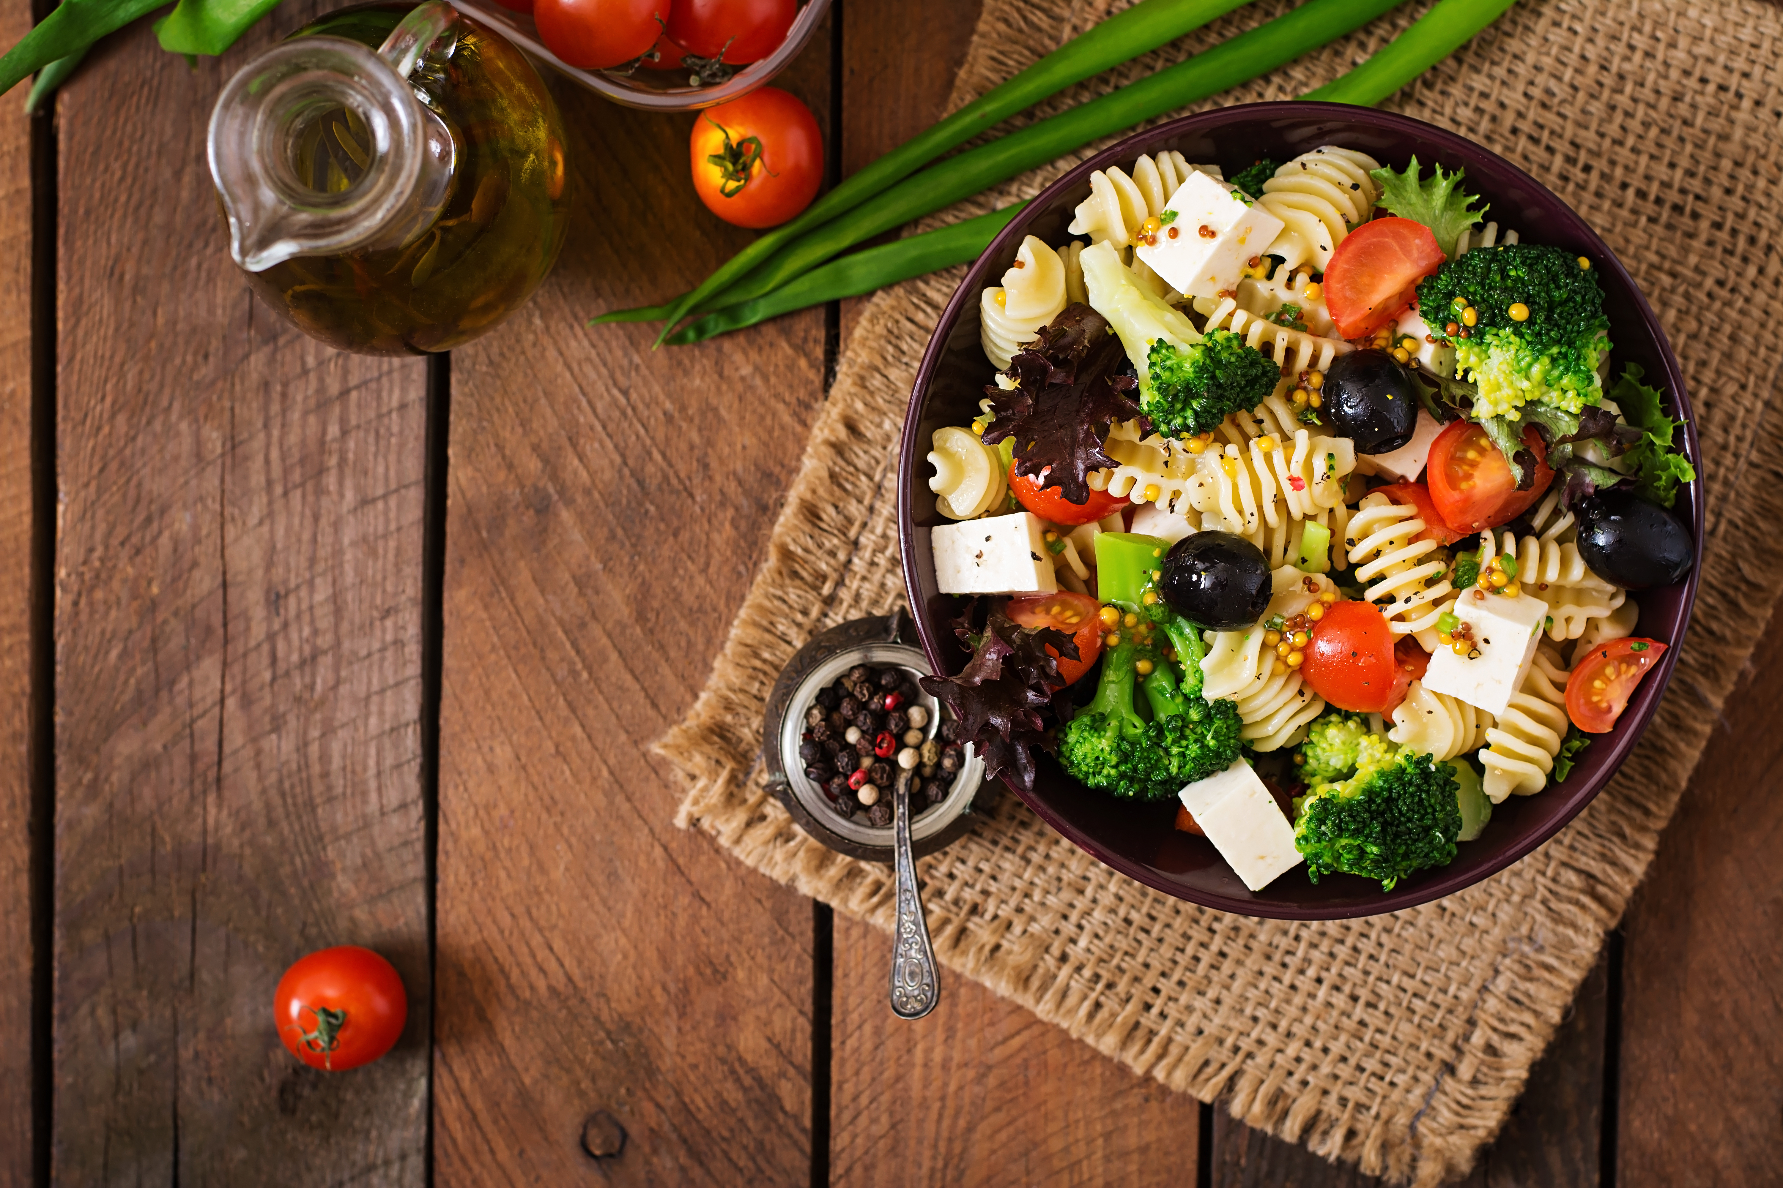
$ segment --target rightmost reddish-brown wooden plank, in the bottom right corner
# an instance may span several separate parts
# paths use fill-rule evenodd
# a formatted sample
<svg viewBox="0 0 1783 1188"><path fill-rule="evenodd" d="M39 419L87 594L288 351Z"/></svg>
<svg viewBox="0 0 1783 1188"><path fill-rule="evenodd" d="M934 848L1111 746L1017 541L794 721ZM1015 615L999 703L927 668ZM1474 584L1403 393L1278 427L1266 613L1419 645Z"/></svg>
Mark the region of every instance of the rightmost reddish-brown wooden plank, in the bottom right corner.
<svg viewBox="0 0 1783 1188"><path fill-rule="evenodd" d="M1783 1183L1783 670L1754 661L1624 921L1624 1188Z"/></svg>

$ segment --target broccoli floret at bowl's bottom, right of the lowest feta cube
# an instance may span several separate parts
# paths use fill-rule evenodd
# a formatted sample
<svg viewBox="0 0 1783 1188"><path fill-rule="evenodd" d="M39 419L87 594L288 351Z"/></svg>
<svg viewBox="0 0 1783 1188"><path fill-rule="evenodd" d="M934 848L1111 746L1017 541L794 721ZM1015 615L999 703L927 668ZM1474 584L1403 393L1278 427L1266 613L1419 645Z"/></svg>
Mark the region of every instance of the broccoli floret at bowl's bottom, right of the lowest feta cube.
<svg viewBox="0 0 1783 1188"><path fill-rule="evenodd" d="M1343 871L1393 891L1412 871L1455 860L1462 826L1455 769L1385 739L1375 752L1366 746L1353 777L1314 784L1300 803L1294 848L1312 882Z"/></svg>

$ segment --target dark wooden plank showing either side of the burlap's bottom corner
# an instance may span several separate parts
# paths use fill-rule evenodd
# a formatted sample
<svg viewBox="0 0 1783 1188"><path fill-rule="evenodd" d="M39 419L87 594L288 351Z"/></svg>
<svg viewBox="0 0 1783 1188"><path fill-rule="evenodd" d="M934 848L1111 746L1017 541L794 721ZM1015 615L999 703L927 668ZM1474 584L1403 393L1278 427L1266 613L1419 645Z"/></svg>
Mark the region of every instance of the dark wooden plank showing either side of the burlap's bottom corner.
<svg viewBox="0 0 1783 1188"><path fill-rule="evenodd" d="M1553 1044L1498 1140L1460 1184L1469 1188L1589 1188L1599 1183L1608 955L1580 985ZM1334 1165L1298 1143L1269 1138L1225 1110L1214 1120L1216 1188L1387 1188L1389 1181Z"/></svg>

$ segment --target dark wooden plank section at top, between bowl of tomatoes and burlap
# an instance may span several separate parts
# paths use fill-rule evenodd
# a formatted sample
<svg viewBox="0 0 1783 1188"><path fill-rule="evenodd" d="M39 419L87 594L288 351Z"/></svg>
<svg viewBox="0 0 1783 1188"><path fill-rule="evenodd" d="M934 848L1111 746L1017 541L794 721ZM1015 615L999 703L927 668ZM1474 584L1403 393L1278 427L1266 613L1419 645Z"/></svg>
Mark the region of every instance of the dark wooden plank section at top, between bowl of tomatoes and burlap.
<svg viewBox="0 0 1783 1188"><path fill-rule="evenodd" d="M872 164L947 114L982 0L852 0L842 14L840 176ZM858 244L895 239L886 232ZM870 297L842 303L842 346Z"/></svg>

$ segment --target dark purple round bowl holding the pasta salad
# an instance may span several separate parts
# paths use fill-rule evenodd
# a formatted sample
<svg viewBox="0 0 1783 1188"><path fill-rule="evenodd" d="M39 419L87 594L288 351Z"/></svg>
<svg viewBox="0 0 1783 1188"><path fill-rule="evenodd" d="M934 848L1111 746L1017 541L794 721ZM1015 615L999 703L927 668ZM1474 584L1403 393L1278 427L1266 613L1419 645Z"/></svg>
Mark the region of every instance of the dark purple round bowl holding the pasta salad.
<svg viewBox="0 0 1783 1188"><path fill-rule="evenodd" d="M1678 403L1678 415L1689 422L1685 447L1701 472L1696 424L1683 376L1646 297L1590 226L1523 169L1453 132L1362 107L1250 103L1187 116L1122 141L1047 187L972 265L929 340L909 397L899 454L899 547L904 554L904 584L911 613L936 671L957 673L968 655L959 650L947 627L947 620L957 613L959 600L940 593L934 582L929 529L945 520L934 511L934 497L929 493L927 452L929 438L938 427L968 424L974 419L984 385L991 378L991 365L979 347L979 290L1004 274L1023 235L1032 233L1050 244L1070 239L1066 223L1072 219L1072 208L1089 196L1089 175L1095 169L1107 166L1127 169L1139 153L1159 150L1179 150L1189 160L1241 167L1259 157L1287 160L1319 144L1357 148L1391 166L1405 166L1412 155L1426 166L1432 162L1448 167L1466 166L1467 187L1491 203L1489 217L1501 228L1514 228L1526 242L1558 244L1590 256L1605 290L1617 374L1623 363L1640 363L1649 383L1671 392ZM1683 639L1690 622L1701 570L1701 479L1683 492L1678 511L1694 525L1696 566L1678 586L1633 595L1640 604L1637 634L1672 645ZM1615 730L1596 737L1585 748L1565 784L1549 785L1535 796L1507 798L1492 809L1485 834L1462 842L1453 864L1414 875L1385 894L1380 883L1350 875L1327 876L1314 885L1303 869L1289 871L1261 892L1250 892L1212 844L1171 826L1173 803L1114 801L1077 784L1045 757L1034 791L1015 791L1052 828L1098 860L1148 887L1193 903L1282 919L1343 919L1394 912L1476 883L1553 837L1590 803L1628 757L1635 739L1653 718L1676 663L1678 647L1671 647L1660 659L1658 670L1640 684Z"/></svg>

